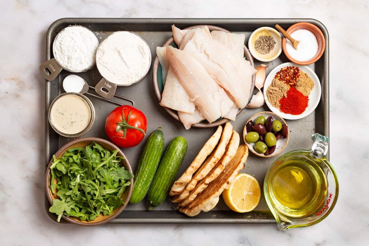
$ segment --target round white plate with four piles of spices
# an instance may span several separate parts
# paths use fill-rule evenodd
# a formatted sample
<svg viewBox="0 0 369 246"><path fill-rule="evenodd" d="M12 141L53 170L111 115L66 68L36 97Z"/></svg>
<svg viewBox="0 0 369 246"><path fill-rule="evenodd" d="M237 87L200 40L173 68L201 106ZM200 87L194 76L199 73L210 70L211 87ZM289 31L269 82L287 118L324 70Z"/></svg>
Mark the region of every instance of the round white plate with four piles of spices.
<svg viewBox="0 0 369 246"><path fill-rule="evenodd" d="M286 62L266 77L264 98L270 110L284 119L301 119L319 104L321 86L310 67Z"/></svg>

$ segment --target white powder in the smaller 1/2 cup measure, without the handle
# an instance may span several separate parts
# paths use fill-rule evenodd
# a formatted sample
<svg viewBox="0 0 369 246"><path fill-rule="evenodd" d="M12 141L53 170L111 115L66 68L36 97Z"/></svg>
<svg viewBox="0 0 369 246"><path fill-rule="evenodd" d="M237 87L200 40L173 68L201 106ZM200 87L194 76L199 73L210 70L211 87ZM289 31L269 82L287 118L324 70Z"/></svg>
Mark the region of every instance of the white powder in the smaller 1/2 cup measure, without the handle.
<svg viewBox="0 0 369 246"><path fill-rule="evenodd" d="M81 26L70 26L56 36L54 56L62 68L81 72L94 65L97 46L99 40L92 31Z"/></svg>

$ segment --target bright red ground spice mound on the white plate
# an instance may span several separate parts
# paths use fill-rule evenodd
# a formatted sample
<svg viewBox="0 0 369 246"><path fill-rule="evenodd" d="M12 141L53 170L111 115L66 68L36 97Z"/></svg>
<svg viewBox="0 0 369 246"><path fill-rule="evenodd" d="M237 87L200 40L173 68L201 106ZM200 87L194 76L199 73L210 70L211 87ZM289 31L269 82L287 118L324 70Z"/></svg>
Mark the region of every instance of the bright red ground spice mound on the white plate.
<svg viewBox="0 0 369 246"><path fill-rule="evenodd" d="M287 97L282 97L279 100L281 112L286 114L299 115L302 114L308 105L309 98L304 96L294 87L290 87L287 91Z"/></svg>

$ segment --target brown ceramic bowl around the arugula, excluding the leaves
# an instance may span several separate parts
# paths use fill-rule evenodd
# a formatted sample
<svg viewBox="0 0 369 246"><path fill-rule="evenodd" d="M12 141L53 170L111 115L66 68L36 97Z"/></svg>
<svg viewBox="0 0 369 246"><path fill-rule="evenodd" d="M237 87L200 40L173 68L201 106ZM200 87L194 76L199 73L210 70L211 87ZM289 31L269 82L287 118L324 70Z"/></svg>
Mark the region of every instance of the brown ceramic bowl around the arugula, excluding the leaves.
<svg viewBox="0 0 369 246"><path fill-rule="evenodd" d="M124 157L124 160L122 160L121 164L125 167L125 169L130 170L132 172L130 163L127 160L127 157L124 155L124 153L113 143L105 140L105 139L101 139L101 138L80 138L77 139L75 141L69 142L66 145L64 145L61 149L58 150L58 152L55 153L56 158L61 157L68 149L71 148L76 148L76 147L86 147L87 145L90 145L92 142L96 142L99 145L101 145L104 149L108 149L108 150L118 150L117 155L118 156L122 156ZM52 194L51 189L50 189L50 166L52 164L52 160L49 162L49 165L46 169L46 174L45 174L45 190L46 190L46 197L48 198L50 205L52 205L52 200L53 199L57 199L58 196L56 194ZM56 181L56 179L55 179ZM76 217L67 217L65 215L62 215L62 218L65 219L66 221L76 224L76 225L82 225L82 226L94 226L94 225L101 225L101 224L105 224L109 221L111 221L112 219L114 219L115 217L117 217L125 208L125 206L128 204L128 202L130 201L131 198L131 193L132 193L132 188L133 188L133 179L130 180L131 181L131 185L128 187L128 189L125 191L125 193L122 195L122 200L124 201L124 204L121 205L120 208L114 209L113 213L111 215L102 215L100 214L100 216L97 216L96 219L94 219L93 221L80 221L78 218ZM56 189L56 188L55 188Z"/></svg>

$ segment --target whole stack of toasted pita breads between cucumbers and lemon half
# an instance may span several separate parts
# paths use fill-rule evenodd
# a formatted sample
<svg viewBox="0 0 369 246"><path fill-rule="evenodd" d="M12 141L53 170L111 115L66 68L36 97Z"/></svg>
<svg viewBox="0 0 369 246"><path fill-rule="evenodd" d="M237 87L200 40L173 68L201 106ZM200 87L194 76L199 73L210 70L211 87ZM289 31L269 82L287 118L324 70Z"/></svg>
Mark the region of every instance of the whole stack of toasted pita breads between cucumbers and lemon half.
<svg viewBox="0 0 369 246"><path fill-rule="evenodd" d="M219 195L229 188L248 157L246 145L239 146L239 134L231 123L219 126L193 162L174 182L169 195L179 211L188 216L210 211Z"/></svg>

